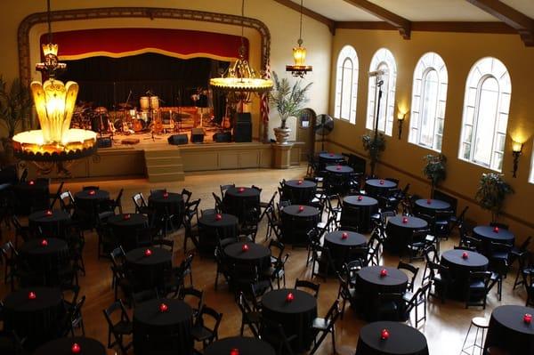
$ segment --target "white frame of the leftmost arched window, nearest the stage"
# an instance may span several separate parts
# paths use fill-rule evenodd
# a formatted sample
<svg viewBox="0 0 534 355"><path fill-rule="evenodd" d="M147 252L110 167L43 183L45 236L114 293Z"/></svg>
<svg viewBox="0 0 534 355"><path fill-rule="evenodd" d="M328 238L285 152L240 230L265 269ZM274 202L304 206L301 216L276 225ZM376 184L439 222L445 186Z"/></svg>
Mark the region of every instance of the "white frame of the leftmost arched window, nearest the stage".
<svg viewBox="0 0 534 355"><path fill-rule="evenodd" d="M351 77L344 77L344 65L347 61L352 64ZM336 101L334 105L334 117L349 121L353 125L356 124L356 100L358 96L358 74L359 74L360 62L358 61L358 54L352 45L345 45L337 56L336 65ZM351 81L351 92L344 93L344 80ZM350 100L349 103L349 116L343 115L343 105L346 99Z"/></svg>

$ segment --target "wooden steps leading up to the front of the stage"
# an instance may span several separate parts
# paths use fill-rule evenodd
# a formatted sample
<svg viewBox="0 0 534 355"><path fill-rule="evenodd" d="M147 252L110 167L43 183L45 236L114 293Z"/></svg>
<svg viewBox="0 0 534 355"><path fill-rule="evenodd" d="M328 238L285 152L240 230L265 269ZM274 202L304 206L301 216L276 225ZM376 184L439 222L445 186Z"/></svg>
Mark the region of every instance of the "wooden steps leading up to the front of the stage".
<svg viewBox="0 0 534 355"><path fill-rule="evenodd" d="M182 182L184 178L180 149L145 149L149 182Z"/></svg>

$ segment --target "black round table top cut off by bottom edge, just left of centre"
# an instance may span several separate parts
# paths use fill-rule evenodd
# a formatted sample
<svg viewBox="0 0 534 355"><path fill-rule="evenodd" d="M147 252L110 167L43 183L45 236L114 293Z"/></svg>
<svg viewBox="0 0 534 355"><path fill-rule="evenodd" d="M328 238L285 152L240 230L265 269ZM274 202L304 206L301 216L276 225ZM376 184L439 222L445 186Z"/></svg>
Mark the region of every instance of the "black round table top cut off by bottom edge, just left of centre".
<svg viewBox="0 0 534 355"><path fill-rule="evenodd" d="M263 342L256 338L245 336L232 336L218 340L207 345L204 355L230 354L232 349L238 349L239 355L275 355L276 351L270 343Z"/></svg>

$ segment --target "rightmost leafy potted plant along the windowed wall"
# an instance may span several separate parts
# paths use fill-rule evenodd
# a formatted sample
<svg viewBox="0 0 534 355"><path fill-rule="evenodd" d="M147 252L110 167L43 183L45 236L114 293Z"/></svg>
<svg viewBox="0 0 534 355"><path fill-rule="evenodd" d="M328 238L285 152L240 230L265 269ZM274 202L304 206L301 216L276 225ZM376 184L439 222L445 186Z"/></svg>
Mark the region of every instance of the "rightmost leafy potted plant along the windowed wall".
<svg viewBox="0 0 534 355"><path fill-rule="evenodd" d="M502 173L482 173L479 188L474 196L479 206L491 211L491 222L497 222L506 195L514 193L514 189L503 180L503 176Z"/></svg>

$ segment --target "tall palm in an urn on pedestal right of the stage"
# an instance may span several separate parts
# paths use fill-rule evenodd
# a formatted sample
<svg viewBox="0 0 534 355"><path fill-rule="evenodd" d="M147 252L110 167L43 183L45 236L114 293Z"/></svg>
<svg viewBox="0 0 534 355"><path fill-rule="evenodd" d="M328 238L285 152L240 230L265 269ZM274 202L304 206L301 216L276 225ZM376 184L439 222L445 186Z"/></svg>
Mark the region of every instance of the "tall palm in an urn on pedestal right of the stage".
<svg viewBox="0 0 534 355"><path fill-rule="evenodd" d="M302 86L301 80L297 80L294 85L289 85L286 77L279 80L276 72L272 72L274 79L274 89L269 93L269 100L279 113L281 125L274 128L276 141L279 144L287 144L291 129L287 127L286 121L289 117L297 117L303 109L303 104L308 101L308 91L312 83Z"/></svg>

